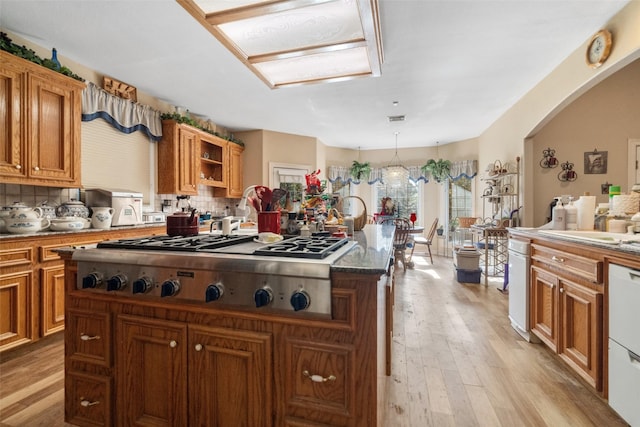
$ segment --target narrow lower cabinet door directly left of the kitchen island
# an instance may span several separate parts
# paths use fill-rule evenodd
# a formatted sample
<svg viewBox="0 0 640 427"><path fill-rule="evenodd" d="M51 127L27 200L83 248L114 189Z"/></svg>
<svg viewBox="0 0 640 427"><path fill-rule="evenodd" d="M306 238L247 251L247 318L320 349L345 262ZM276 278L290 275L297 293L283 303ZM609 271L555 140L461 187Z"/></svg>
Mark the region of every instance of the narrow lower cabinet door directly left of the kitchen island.
<svg viewBox="0 0 640 427"><path fill-rule="evenodd" d="M64 264L40 270L42 336L64 329Z"/></svg>

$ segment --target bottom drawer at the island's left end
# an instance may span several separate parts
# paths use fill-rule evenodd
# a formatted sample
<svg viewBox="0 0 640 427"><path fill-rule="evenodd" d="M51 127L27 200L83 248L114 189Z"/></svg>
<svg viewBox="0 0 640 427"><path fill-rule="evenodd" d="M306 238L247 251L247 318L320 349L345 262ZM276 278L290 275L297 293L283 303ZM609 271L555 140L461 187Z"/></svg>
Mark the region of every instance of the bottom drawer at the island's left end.
<svg viewBox="0 0 640 427"><path fill-rule="evenodd" d="M79 426L111 426L111 379L81 372L65 378L65 421Z"/></svg>

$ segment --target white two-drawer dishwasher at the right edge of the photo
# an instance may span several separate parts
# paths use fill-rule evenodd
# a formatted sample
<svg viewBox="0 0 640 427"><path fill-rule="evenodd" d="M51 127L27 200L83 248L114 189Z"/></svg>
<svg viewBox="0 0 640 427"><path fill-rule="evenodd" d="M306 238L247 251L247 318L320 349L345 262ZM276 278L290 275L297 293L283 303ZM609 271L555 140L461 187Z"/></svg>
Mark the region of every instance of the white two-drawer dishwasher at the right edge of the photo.
<svg viewBox="0 0 640 427"><path fill-rule="evenodd" d="M609 265L609 406L640 426L640 270Z"/></svg>

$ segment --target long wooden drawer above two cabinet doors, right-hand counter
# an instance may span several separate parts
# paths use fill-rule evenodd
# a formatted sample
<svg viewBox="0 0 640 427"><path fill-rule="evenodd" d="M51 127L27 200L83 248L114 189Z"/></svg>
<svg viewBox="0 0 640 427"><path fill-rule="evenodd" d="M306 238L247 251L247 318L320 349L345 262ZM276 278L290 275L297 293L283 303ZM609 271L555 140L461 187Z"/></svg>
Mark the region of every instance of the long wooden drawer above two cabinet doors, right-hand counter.
<svg viewBox="0 0 640 427"><path fill-rule="evenodd" d="M581 255L558 251L537 244L531 245L531 259L549 267L581 277L591 283L602 283L603 262Z"/></svg>

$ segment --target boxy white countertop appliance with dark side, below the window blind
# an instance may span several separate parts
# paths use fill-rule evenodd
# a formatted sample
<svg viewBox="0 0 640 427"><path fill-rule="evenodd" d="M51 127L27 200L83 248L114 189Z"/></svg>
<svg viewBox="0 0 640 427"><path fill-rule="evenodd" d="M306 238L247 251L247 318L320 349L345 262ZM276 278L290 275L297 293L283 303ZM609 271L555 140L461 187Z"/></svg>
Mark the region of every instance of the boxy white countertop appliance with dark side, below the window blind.
<svg viewBox="0 0 640 427"><path fill-rule="evenodd" d="M86 205L113 208L111 226L138 225L142 220L142 193L129 190L85 190Z"/></svg>

